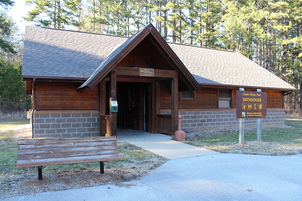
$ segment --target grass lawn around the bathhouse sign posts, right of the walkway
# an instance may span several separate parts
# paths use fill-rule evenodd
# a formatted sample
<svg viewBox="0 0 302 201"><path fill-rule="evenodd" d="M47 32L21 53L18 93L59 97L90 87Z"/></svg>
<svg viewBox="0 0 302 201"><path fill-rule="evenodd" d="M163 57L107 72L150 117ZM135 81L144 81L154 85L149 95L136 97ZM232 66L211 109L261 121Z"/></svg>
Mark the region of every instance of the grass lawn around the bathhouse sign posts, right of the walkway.
<svg viewBox="0 0 302 201"><path fill-rule="evenodd" d="M262 141L256 141L256 128L246 128L244 144L240 145L239 131L232 129L203 132L184 143L221 153L293 155L302 154L302 119L285 120L284 128L262 129ZM289 127L290 126L290 127ZM194 132L196 133L196 132ZM188 133L190 135L190 133Z"/></svg>

